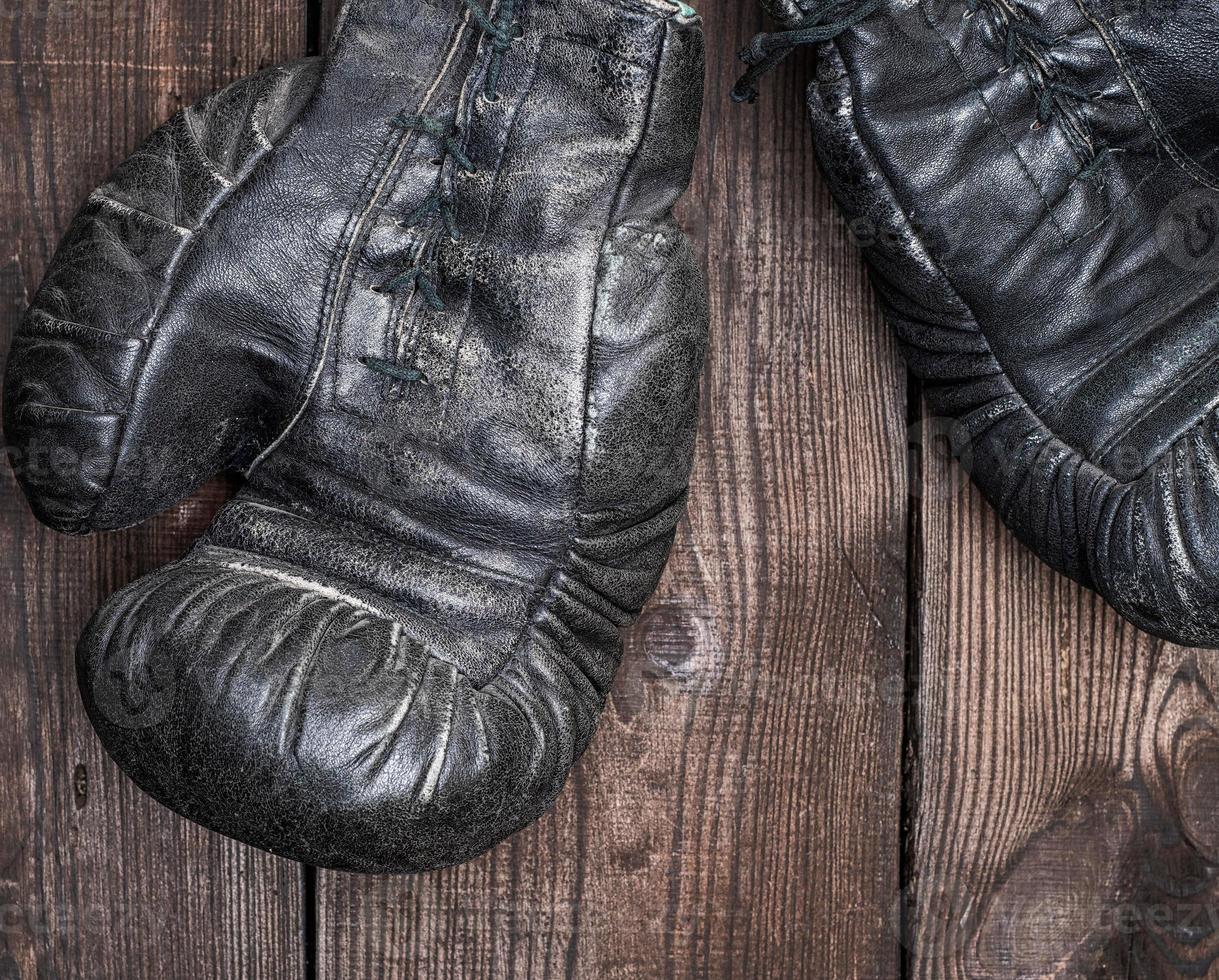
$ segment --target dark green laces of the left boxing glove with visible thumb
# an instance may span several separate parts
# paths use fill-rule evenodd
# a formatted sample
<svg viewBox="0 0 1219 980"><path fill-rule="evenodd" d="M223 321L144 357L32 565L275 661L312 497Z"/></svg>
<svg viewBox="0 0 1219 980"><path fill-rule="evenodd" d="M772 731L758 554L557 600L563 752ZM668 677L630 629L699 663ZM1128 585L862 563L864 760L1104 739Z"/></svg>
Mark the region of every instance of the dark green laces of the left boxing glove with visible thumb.
<svg viewBox="0 0 1219 980"><path fill-rule="evenodd" d="M477 0L462 0L462 4L466 5L479 29L491 39L491 59L486 67L486 84L483 91L489 101L496 101L499 99L500 77L503 72L503 59L508 49L512 48L512 43L523 33L521 24L513 21L516 0L502 0L494 20L479 6ZM439 217L440 223L449 233L449 238L458 241L461 239L461 229L457 225L457 200L445 178L444 167L450 160L466 173L474 173L475 167L462 146L462 133L457 127L456 119L438 119L433 116L401 113L394 119L393 124L432 137L440 147L440 155L435 161L440 166L440 176L436 179L435 189L414 211L397 222L399 228L416 228L424 222ZM436 288L439 252L439 239L433 235L413 266L403 269L382 285L374 286L374 289L378 293L400 293L413 288L418 290L423 301L429 307L436 312L444 312L445 302L440 297L440 290ZM414 367L402 366L396 361L388 361L383 357L362 357L361 361L377 373L397 382L425 380L423 372Z"/></svg>

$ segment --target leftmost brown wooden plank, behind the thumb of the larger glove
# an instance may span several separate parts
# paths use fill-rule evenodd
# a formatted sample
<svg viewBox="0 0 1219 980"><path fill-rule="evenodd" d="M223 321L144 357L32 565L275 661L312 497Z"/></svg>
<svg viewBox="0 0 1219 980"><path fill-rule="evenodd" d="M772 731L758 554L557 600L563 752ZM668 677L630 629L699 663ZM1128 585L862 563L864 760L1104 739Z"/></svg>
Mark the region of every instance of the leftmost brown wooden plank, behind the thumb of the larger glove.
<svg viewBox="0 0 1219 980"><path fill-rule="evenodd" d="M304 51L296 0L0 5L0 343L77 204L182 105ZM76 687L94 608L180 555L215 485L133 531L35 524L0 470L0 976L290 978L300 870L151 802L104 757Z"/></svg>

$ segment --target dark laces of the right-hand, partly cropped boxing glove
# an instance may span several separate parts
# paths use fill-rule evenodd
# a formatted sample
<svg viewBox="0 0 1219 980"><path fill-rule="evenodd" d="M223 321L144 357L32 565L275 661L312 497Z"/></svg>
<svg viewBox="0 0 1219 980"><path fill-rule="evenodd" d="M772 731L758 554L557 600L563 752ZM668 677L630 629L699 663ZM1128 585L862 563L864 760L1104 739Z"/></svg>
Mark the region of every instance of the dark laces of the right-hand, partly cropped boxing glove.
<svg viewBox="0 0 1219 980"><path fill-rule="evenodd" d="M995 5L995 0L964 0L964 2L965 17L984 13L995 18L996 27L1004 38L1004 71L1011 71L1025 61L1032 66L1035 74L1042 78L1037 90L1037 116L1036 122L1032 123L1034 129L1048 126L1065 100L1087 104L1103 98L1101 93L1084 91L1075 85L1045 78L1041 66L1025 57L1030 48L1040 48L1046 51L1056 48L1063 40L1057 34L1030 21L1012 20ZM757 80L778 67L796 48L834 40L865 21L883 5L884 0L824 0L809 11L798 27L772 34L758 34L740 52L741 61L748 68L733 88L733 100L736 102L755 101L758 96ZM1112 146L1092 147L1091 158L1076 174L1076 179L1097 179L1104 163L1119 152L1123 151Z"/></svg>

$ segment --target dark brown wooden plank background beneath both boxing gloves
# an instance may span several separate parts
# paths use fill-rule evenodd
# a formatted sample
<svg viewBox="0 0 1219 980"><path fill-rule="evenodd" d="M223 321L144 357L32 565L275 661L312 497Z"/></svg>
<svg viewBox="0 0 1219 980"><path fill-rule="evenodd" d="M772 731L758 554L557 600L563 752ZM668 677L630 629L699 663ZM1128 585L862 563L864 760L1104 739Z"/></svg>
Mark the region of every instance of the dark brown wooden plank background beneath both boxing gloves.
<svg viewBox="0 0 1219 980"><path fill-rule="evenodd" d="M378 879L154 804L89 729L73 645L226 486L74 540L4 468L0 980L1219 975L1219 659L1124 625L1003 531L814 172L807 59L734 107L763 22L746 0L703 13L690 517L558 806L466 867ZM156 123L317 50L332 15L0 0L2 329Z"/></svg>

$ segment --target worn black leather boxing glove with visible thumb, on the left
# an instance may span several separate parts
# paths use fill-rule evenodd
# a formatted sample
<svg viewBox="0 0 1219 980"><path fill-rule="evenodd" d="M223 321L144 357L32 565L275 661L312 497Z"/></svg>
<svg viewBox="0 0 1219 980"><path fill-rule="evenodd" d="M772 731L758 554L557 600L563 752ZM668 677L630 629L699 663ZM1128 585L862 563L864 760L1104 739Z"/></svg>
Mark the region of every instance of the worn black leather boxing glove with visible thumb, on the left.
<svg viewBox="0 0 1219 980"><path fill-rule="evenodd" d="M117 528L247 474L79 645L147 792L361 872L555 800L685 506L701 98L684 5L356 0L89 199L10 358L33 507Z"/></svg>

